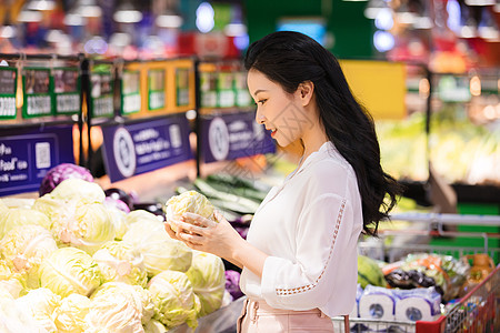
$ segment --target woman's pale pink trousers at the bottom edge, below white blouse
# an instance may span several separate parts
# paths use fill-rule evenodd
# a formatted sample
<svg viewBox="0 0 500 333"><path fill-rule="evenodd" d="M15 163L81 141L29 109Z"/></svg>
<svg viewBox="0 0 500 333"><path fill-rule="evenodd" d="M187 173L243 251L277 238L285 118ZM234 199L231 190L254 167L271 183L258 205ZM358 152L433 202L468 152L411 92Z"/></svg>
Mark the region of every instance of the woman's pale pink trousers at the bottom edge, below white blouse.
<svg viewBox="0 0 500 333"><path fill-rule="evenodd" d="M332 333L333 323L319 309L280 310L263 301L246 300L237 322L238 333Z"/></svg>

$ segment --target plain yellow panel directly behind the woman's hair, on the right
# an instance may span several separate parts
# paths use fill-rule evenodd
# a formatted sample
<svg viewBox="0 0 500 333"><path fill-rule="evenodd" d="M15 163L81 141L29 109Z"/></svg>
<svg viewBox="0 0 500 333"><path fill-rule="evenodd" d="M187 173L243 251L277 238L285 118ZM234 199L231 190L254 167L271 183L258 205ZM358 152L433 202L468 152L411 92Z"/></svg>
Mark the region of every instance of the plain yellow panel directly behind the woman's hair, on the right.
<svg viewBox="0 0 500 333"><path fill-rule="evenodd" d="M374 120L403 119L407 115L406 68L384 61L339 61L352 93Z"/></svg>

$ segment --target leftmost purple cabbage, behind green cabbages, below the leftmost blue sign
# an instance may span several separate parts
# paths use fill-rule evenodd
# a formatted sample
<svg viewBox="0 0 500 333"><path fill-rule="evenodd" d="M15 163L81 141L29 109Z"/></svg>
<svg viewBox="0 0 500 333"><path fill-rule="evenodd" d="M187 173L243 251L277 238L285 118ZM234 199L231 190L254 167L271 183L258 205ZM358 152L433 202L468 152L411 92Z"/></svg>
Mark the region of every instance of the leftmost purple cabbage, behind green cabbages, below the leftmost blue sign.
<svg viewBox="0 0 500 333"><path fill-rule="evenodd" d="M61 163L50 169L43 176L39 189L40 196L52 192L63 180L73 178L93 182L93 176L88 169L73 163Z"/></svg>

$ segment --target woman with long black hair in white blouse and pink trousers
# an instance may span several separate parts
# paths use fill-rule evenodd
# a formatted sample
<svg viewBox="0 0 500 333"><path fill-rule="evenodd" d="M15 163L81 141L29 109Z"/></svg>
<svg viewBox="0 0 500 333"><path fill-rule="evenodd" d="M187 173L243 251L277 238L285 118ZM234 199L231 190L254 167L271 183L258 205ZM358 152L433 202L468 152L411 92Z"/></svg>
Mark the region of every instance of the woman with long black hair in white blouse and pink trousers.
<svg viewBox="0 0 500 333"><path fill-rule="evenodd" d="M177 234L166 229L243 269L240 332L332 332L330 317L354 306L358 238L377 234L400 189L329 51L304 34L274 32L250 46L244 65L256 121L281 147L301 141L299 165L263 200L247 241L220 214L214 223L188 213Z"/></svg>

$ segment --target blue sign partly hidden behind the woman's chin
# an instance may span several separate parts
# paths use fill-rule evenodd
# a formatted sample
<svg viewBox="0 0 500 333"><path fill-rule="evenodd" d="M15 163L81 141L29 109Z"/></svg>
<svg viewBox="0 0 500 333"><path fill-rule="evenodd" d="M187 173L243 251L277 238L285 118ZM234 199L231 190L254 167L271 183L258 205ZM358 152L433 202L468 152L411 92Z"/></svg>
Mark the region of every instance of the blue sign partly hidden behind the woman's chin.
<svg viewBox="0 0 500 333"><path fill-rule="evenodd" d="M200 135L207 163L276 152L271 135L256 122L254 112L203 117Z"/></svg>

